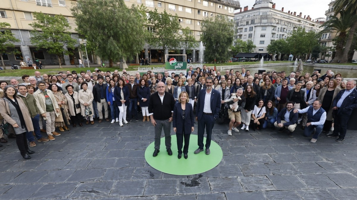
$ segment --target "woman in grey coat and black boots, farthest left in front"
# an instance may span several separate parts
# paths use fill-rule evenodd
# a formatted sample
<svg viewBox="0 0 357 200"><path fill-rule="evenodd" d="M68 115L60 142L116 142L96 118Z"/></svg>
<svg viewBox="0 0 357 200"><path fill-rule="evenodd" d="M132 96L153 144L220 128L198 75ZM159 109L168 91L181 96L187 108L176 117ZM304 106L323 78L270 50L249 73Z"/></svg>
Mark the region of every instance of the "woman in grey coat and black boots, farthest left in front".
<svg viewBox="0 0 357 200"><path fill-rule="evenodd" d="M27 145L26 132L34 131L34 127L24 101L17 96L16 88L12 85L4 88L4 98L0 99L0 114L4 117L4 124L7 123L14 129L21 156L30 159L28 154L35 152Z"/></svg>

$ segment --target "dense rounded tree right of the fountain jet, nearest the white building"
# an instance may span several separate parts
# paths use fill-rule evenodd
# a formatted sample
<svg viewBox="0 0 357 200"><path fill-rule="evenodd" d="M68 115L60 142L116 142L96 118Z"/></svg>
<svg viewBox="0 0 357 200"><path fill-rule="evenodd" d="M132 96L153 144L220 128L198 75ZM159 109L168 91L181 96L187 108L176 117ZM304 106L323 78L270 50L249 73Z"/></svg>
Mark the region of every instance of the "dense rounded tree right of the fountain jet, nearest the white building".
<svg viewBox="0 0 357 200"><path fill-rule="evenodd" d="M232 46L233 23L226 17L210 17L203 20L201 41L206 47L205 60L226 62L229 57L228 48Z"/></svg>

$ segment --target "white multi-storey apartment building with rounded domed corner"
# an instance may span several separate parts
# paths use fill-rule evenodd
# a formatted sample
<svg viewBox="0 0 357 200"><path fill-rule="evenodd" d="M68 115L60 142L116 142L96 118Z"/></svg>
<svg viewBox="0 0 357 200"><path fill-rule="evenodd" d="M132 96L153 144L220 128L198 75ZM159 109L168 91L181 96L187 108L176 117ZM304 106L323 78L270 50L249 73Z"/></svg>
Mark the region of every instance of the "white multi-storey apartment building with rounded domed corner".
<svg viewBox="0 0 357 200"><path fill-rule="evenodd" d="M323 30L321 24L311 19L310 15L297 14L296 11L276 9L271 0L256 0L249 9L241 8L235 13L236 39L252 40L257 46L255 52L267 53L267 46L273 40L286 39L293 30L303 27L306 31L319 32Z"/></svg>

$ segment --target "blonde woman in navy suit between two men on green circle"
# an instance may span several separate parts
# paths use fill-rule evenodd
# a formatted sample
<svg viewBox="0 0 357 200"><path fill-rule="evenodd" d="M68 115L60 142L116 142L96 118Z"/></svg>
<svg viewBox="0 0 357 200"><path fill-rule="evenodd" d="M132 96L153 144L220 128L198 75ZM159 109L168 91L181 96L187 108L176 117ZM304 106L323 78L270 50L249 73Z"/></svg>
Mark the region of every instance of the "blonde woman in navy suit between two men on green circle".
<svg viewBox="0 0 357 200"><path fill-rule="evenodd" d="M181 92L178 97L179 104L175 104L174 114L172 120L172 126L176 132L177 140L177 149L178 155L177 158L181 158L182 154L182 144L185 140L185 146L183 146L183 157L187 159L188 153L188 144L190 143L190 135L194 130L195 122L193 121L193 109L192 105L188 103L188 94L186 91Z"/></svg>

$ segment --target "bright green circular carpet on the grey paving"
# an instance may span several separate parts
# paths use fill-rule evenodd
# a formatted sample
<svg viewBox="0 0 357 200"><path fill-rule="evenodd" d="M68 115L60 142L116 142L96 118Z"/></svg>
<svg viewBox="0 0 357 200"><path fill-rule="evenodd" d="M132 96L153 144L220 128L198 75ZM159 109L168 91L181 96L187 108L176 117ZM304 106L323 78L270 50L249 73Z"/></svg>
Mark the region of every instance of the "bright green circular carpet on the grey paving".
<svg viewBox="0 0 357 200"><path fill-rule="evenodd" d="M203 138L203 143L206 143L206 138ZM211 141L211 154L206 155L205 149L198 154L194 154L197 146L197 135L190 136L190 146L188 147L188 158L177 158L177 142L176 135L171 135L171 150L172 156L166 152L165 137L161 138L160 152L156 157L152 156L154 153L154 142L152 142L145 150L146 162L153 168L173 175L193 175L207 172L213 169L221 162L223 152L221 147L214 141Z"/></svg>

